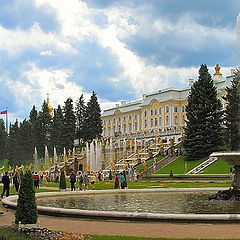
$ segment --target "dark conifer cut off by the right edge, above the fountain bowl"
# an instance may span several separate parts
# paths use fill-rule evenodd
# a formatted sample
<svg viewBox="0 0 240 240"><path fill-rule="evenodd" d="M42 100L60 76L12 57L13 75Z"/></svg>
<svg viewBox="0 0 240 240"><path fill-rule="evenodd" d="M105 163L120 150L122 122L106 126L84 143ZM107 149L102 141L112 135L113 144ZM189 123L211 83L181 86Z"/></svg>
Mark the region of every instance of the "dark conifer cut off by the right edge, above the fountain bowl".
<svg viewBox="0 0 240 240"><path fill-rule="evenodd" d="M232 85L226 88L227 95L224 98L227 106L225 111L225 123L227 139L231 150L239 149L240 140L240 70L236 69Z"/></svg>

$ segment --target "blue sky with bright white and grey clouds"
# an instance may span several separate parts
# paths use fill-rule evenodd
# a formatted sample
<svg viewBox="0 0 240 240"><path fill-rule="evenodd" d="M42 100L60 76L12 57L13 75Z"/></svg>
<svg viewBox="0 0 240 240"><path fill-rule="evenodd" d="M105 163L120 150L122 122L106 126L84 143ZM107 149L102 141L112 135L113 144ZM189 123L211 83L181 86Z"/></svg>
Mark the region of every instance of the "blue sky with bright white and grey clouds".
<svg viewBox="0 0 240 240"><path fill-rule="evenodd" d="M10 121L97 92L102 109L239 62L239 0L0 0L0 110Z"/></svg>

